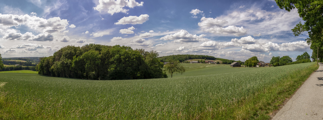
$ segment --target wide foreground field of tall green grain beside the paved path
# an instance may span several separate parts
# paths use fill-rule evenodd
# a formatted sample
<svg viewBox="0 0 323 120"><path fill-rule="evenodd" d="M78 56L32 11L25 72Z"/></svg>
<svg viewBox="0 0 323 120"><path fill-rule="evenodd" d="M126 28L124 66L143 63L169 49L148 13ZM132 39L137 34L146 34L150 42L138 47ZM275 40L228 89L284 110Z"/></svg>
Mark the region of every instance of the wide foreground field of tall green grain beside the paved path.
<svg viewBox="0 0 323 120"><path fill-rule="evenodd" d="M190 74L228 72L110 81L1 72L0 119L270 119L318 68L190 65Z"/></svg>

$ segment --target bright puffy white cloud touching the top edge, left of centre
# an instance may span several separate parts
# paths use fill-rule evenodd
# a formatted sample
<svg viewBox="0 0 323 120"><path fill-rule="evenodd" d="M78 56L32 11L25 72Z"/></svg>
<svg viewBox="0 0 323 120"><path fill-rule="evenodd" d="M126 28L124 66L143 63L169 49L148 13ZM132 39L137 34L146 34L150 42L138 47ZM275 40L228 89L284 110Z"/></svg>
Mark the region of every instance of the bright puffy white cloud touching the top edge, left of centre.
<svg viewBox="0 0 323 120"><path fill-rule="evenodd" d="M127 13L129 10L124 7L133 8L135 6L142 6L143 2L136 2L135 0L99 0L99 5L94 7L99 12L107 12L111 15L115 13Z"/></svg>

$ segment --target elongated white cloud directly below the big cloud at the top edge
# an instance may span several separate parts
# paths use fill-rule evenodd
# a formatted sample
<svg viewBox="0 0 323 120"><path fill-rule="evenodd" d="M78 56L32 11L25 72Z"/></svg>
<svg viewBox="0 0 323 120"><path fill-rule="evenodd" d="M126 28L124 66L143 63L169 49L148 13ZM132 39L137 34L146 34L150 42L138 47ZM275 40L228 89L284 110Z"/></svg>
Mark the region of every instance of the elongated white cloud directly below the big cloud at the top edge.
<svg viewBox="0 0 323 120"><path fill-rule="evenodd" d="M149 15L140 15L138 16L129 16L129 17L123 17L120 20L118 20L117 23L114 23L116 25L125 25L125 24L142 24L149 20Z"/></svg>

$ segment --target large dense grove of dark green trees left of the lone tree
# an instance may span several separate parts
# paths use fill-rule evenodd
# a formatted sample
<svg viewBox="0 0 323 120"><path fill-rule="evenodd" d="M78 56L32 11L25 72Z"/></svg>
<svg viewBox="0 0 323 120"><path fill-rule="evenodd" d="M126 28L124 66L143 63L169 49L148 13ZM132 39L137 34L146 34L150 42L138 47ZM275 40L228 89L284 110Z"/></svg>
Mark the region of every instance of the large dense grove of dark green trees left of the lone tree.
<svg viewBox="0 0 323 120"><path fill-rule="evenodd" d="M65 46L53 56L40 58L38 74L94 80L167 77L156 51L128 46L89 44Z"/></svg>

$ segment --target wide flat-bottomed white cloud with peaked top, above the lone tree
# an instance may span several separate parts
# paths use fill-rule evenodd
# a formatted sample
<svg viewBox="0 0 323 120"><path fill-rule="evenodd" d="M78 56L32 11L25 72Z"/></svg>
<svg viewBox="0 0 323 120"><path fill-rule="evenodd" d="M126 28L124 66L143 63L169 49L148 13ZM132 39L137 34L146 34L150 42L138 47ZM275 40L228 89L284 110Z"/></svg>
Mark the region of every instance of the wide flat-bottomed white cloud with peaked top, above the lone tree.
<svg viewBox="0 0 323 120"><path fill-rule="evenodd" d="M181 30L175 34L165 35L161 37L161 40L174 40L174 42L199 42L199 41L208 41L208 39L204 38L205 35L193 35L188 33L186 30Z"/></svg>

